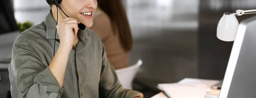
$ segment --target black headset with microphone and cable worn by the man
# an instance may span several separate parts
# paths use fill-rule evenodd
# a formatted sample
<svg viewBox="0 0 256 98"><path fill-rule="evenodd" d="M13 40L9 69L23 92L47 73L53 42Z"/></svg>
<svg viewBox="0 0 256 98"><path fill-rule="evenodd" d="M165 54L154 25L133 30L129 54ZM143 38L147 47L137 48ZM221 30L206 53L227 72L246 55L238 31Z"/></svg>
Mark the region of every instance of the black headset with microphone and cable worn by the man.
<svg viewBox="0 0 256 98"><path fill-rule="evenodd" d="M59 3L61 3L62 0L49 0L48 3L49 4L53 4L53 5L56 5L56 8L57 8L57 23L56 25L58 24L58 8L65 14L65 12L62 10L61 6L59 5ZM65 14L67 16L67 14ZM69 16L67 16L69 17ZM84 30L85 29L85 25L80 23L78 24L78 27L79 29L81 30ZM55 29L55 41L54 41L54 49L53 49L53 57L54 57L54 54L55 54L55 43L56 43L56 31L57 31L57 28Z"/></svg>

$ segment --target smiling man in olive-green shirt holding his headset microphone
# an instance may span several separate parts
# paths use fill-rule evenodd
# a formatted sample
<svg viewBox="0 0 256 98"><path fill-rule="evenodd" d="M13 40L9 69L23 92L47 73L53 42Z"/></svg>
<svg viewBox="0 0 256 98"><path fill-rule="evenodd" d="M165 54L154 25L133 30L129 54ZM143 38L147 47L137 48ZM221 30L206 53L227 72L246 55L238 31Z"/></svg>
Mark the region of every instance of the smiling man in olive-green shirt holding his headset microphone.
<svg viewBox="0 0 256 98"><path fill-rule="evenodd" d="M98 36L78 27L92 26L97 1L57 1L71 18L50 4L45 21L15 40L9 66L12 98L143 98L122 88Z"/></svg>

